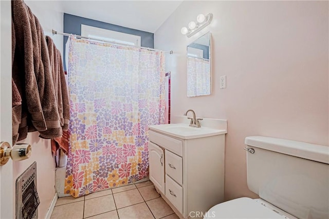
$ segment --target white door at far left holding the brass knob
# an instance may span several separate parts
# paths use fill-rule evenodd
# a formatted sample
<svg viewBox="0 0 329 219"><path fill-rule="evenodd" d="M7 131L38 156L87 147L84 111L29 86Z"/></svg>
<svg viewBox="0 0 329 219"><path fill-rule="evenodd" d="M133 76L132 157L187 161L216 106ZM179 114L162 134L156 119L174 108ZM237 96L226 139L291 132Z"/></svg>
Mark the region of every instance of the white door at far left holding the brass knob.
<svg viewBox="0 0 329 219"><path fill-rule="evenodd" d="M11 2L0 1L0 142L12 146L11 130ZM0 166L0 218L14 218L12 161Z"/></svg>

